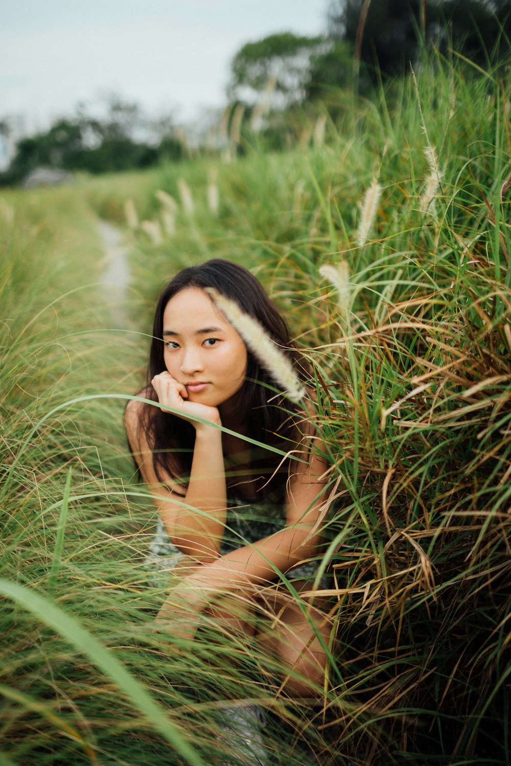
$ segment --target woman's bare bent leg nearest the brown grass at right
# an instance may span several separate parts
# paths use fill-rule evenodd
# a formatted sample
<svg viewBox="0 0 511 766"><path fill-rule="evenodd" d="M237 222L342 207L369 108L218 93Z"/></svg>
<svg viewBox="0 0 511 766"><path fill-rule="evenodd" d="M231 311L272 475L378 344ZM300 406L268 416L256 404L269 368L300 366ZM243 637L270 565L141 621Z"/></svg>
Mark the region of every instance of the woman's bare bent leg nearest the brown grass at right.
<svg viewBox="0 0 511 766"><path fill-rule="evenodd" d="M297 591L310 591L310 582L294 582ZM316 602L318 600L316 599ZM261 602L260 602L261 603ZM332 625L310 599L304 599L306 614L289 592L275 590L264 597L255 639L275 663L281 687L293 697L317 698L325 685L328 660L322 646L329 646ZM319 640L319 637L321 640Z"/></svg>

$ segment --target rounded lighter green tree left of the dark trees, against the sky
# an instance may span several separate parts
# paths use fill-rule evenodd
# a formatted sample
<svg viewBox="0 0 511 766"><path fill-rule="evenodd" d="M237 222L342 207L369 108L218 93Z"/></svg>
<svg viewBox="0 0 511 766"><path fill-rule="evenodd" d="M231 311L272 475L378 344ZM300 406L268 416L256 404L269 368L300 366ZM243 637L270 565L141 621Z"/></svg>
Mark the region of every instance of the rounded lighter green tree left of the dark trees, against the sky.
<svg viewBox="0 0 511 766"><path fill-rule="evenodd" d="M273 82L280 106L300 101L309 79L311 57L330 45L326 38L300 37L290 32L247 43L231 62L228 97L231 101L254 103Z"/></svg>

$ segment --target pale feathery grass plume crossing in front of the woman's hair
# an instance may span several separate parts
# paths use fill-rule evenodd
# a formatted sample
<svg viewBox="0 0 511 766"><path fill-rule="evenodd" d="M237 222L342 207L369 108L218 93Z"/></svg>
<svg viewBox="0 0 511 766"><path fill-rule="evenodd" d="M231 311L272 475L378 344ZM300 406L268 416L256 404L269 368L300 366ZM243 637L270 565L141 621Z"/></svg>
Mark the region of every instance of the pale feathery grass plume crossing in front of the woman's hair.
<svg viewBox="0 0 511 766"><path fill-rule="evenodd" d="M305 396L305 389L296 377L293 365L287 356L280 351L277 343L268 338L257 319L253 319L241 311L234 300L221 295L214 287L206 287L205 290L231 322L234 329L239 332L247 348L251 350L260 365L283 388L287 398L290 398L291 401L300 401Z"/></svg>

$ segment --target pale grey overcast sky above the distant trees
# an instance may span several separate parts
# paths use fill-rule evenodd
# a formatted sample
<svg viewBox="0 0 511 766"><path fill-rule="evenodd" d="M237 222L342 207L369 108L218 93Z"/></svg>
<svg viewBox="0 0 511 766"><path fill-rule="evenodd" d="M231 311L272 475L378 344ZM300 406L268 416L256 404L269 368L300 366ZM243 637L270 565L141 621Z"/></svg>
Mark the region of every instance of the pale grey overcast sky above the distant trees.
<svg viewBox="0 0 511 766"><path fill-rule="evenodd" d="M327 0L0 0L0 119L47 127L116 92L189 122L225 103L239 48L279 31L319 34ZM179 109L178 109L179 107Z"/></svg>

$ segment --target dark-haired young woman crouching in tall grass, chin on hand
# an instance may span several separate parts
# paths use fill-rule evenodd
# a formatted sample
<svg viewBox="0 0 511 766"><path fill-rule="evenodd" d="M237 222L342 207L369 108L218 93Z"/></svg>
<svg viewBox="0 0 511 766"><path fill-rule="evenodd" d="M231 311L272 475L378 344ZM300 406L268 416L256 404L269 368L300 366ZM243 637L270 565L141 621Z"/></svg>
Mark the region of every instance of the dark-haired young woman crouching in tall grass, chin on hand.
<svg viewBox="0 0 511 766"><path fill-rule="evenodd" d="M183 554L174 572L179 584L157 621L192 639L201 620L214 620L229 636L258 642L287 692L310 698L323 688L329 643L326 618L296 568L317 555L324 504L326 463L310 426L313 404L300 411L282 394L211 289L257 320L304 378L285 322L248 270L210 260L182 270L163 290L150 383L139 394L158 406L133 400L126 408L139 470ZM308 589L307 609L282 584L285 573L293 588ZM254 611L265 619L254 622ZM254 758L264 762L260 748Z"/></svg>

